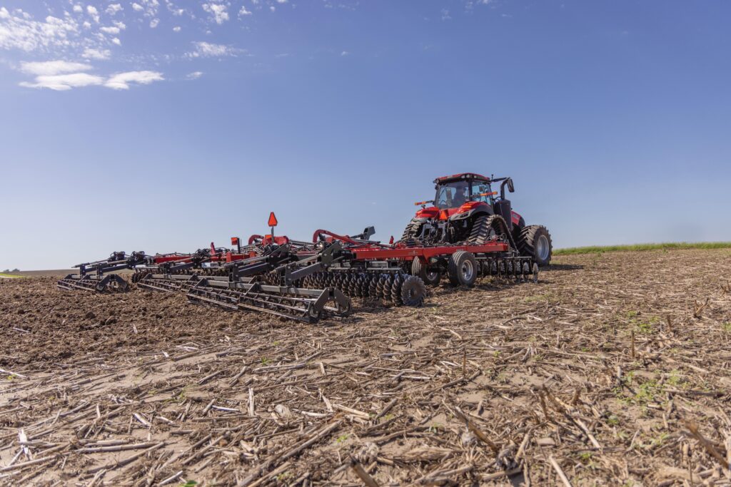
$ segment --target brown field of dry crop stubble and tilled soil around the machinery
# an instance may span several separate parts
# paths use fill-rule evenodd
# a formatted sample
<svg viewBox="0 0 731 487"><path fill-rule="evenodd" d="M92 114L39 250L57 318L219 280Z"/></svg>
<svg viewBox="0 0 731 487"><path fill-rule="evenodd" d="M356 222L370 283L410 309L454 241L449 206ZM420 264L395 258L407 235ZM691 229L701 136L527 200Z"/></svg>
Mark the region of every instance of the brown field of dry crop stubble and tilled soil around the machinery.
<svg viewBox="0 0 731 487"><path fill-rule="evenodd" d="M0 482L730 485L731 250L555 261L318 325L0 280Z"/></svg>

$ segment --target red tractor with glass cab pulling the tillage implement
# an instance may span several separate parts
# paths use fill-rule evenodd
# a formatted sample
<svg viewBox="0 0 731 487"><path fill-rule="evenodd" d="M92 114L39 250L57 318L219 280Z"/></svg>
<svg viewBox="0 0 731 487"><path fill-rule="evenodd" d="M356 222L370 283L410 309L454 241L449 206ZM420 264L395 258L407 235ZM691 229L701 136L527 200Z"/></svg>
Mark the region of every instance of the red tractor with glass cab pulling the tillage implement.
<svg viewBox="0 0 731 487"><path fill-rule="evenodd" d="M548 265L553 249L550 234L545 226L526 226L523 217L512 211L505 198L506 186L510 193L515 191L510 177L466 172L437 177L434 183L435 199L416 203L422 208L406 226L402 242L483 244L497 237L539 266ZM493 183L501 183L499 196Z"/></svg>

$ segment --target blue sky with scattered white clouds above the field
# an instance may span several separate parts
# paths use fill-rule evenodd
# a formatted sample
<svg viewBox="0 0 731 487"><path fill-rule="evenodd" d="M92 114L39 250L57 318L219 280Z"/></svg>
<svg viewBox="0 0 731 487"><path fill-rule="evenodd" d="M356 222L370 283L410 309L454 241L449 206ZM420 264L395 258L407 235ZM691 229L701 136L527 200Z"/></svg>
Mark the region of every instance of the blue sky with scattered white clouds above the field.
<svg viewBox="0 0 731 487"><path fill-rule="evenodd" d="M398 237L510 175L568 247L730 240L725 1L0 0L0 269Z"/></svg>

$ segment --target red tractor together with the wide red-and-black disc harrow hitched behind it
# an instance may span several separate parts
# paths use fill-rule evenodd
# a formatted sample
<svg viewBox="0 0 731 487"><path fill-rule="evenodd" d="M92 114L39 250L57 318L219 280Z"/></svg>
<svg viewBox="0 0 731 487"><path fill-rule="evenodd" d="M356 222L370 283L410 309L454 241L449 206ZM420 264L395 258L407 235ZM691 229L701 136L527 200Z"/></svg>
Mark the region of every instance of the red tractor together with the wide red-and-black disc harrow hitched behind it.
<svg viewBox="0 0 731 487"><path fill-rule="evenodd" d="M496 198L491 183L500 181ZM252 235L247 245L233 237L232 248L211 243L193 253L115 252L78 265L79 273L59 280L58 287L129 291L118 272L131 269L138 288L314 323L325 315L349 315L354 297L420 306L426 285L439 285L442 276L465 286L480 276L537 281L538 265L550 261L550 236L512 211L504 195L506 185L513 190L510 178L466 173L435 183L436 198L421 203L396 243L371 240L373 227L355 236L317 230L311 242L276 236L279 222L271 213L270 233Z"/></svg>

